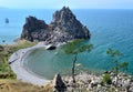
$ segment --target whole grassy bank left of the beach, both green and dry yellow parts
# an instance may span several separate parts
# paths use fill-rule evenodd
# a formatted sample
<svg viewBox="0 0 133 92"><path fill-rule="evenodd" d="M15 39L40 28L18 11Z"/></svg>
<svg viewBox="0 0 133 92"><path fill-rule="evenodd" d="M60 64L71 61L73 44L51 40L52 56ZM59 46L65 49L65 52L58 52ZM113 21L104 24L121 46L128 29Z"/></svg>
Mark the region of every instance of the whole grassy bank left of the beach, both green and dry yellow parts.
<svg viewBox="0 0 133 92"><path fill-rule="evenodd" d="M13 52L35 44L37 42L23 40L16 44L0 45L0 92L47 92L44 86L17 81L16 74L8 63Z"/></svg>

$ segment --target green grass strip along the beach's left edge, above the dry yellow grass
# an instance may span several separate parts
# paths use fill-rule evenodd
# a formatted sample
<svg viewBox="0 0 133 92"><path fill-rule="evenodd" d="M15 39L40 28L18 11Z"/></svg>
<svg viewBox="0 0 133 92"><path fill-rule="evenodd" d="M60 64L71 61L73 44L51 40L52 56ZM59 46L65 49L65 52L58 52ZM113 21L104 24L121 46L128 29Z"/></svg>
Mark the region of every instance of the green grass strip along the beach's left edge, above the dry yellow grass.
<svg viewBox="0 0 133 92"><path fill-rule="evenodd" d="M16 79L16 74L11 70L8 60L11 54L20 49L35 45L35 42L20 41L16 44L0 45L0 79Z"/></svg>

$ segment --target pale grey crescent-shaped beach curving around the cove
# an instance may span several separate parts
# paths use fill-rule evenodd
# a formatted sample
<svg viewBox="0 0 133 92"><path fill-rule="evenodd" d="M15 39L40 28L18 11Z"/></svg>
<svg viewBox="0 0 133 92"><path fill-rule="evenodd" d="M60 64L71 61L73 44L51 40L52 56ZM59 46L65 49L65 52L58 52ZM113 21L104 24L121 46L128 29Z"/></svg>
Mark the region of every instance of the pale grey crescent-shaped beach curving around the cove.
<svg viewBox="0 0 133 92"><path fill-rule="evenodd" d="M12 69L12 71L17 74L17 79L21 80L23 82L29 82L35 85L44 85L45 83L50 82L50 80L45 80L44 78L40 78L32 73L31 71L28 71L23 67L23 58L28 54L29 51L38 48L45 48L47 45L44 42L40 42L34 47L21 49L17 52L14 52L10 59L9 63Z"/></svg>

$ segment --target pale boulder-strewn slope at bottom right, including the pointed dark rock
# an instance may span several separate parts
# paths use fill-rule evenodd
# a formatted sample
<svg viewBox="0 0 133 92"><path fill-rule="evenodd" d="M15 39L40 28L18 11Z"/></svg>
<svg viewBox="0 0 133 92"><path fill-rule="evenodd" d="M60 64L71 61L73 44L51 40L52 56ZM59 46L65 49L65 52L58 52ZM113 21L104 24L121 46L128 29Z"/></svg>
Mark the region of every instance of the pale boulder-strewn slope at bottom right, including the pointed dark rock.
<svg viewBox="0 0 133 92"><path fill-rule="evenodd" d="M44 89L47 92L133 92L133 78L131 75L119 73L119 82L115 86L115 74L113 72L108 73L111 76L111 83L103 80L105 74L95 75L81 72L75 75L75 83L72 82L70 75L63 76L63 79L55 75L54 80L48 83Z"/></svg>

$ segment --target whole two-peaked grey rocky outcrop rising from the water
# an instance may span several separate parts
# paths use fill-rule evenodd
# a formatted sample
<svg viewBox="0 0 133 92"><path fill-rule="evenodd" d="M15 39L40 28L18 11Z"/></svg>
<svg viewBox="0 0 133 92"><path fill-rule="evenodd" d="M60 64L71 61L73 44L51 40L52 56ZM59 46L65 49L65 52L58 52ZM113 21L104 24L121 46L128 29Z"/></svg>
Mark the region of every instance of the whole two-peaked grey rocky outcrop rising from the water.
<svg viewBox="0 0 133 92"><path fill-rule="evenodd" d="M90 31L88 28L65 7L60 11L55 11L50 24L34 17L27 18L21 34L21 39L47 41L49 43L89 38Z"/></svg>

